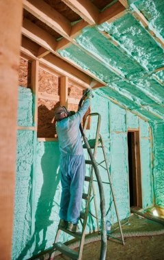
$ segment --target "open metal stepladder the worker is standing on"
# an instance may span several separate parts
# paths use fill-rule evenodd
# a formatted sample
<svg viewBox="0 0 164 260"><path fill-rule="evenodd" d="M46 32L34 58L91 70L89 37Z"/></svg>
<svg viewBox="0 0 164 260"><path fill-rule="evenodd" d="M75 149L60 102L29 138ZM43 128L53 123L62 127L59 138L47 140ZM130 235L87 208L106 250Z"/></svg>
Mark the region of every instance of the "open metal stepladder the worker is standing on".
<svg viewBox="0 0 164 260"><path fill-rule="evenodd" d="M72 254L72 256L74 256L74 259L78 259L78 260L81 260L81 258L82 258L83 245L84 245L84 239L85 239L85 228L86 228L87 217L88 217L89 209L90 209L90 198L92 196L92 192L93 192L94 207L95 207L95 212L96 212L96 223L97 223L98 231L100 230L99 223L98 223L98 209L97 209L97 205L96 205L96 192L95 192L95 189L94 189L94 179L93 179L94 165L95 164L96 164L96 167L97 166L101 166L100 164L102 164L102 162L105 162L105 164L106 164L106 168L103 167L103 166L102 166L102 168L105 168L105 170L107 170L107 174L108 174L108 178L109 178L109 184L110 184L110 187L111 187L111 194L112 194L112 197L113 197L113 203L114 203L114 207L115 207L115 213L116 213L116 216L118 218L118 224L119 224L120 233L121 233L121 237L122 237L122 244L124 244L124 237L123 237L123 233L122 233L122 226L121 226L121 223L120 223L118 209L117 209L117 206L116 206L115 197L114 197L114 193L113 193L113 186L112 186L112 183L111 183L111 177L110 177L110 173L109 173L109 164L108 164L107 156L106 156L106 153L105 153L104 142L102 140L102 136L100 135L100 121L101 121L100 114L98 114L98 113L88 114L86 116L86 118L85 118L85 123L84 123L84 126L83 126L83 130L81 128L81 133L86 131L86 129L87 129L87 122L88 122L89 118L92 117L92 116L98 116L97 129L96 129L96 138L94 140L95 141L94 142L94 146L93 145L92 145L92 147L90 147L90 145L88 146L88 144L87 144L88 142L87 142L87 140L85 138L85 135L83 137L84 140L85 140L85 144L87 144L87 152L88 153L92 153L92 151L91 151L92 149L94 151L93 151L93 154L92 154L92 157L91 157L92 158L91 161L85 160L85 164L90 164L90 177L87 177L85 179L85 181L89 181L89 187L88 187L88 190L87 190L87 194L83 194L83 195L85 195L85 196L83 196L83 198L87 201L87 203L85 205L85 212L83 212L83 222L81 220L82 232L81 233L77 233L77 234L71 234L70 231L67 232L67 230L58 228L57 229L57 234L55 236L55 242L54 242L54 244L55 244L58 241L59 235L60 235L61 231L65 231L66 233L69 233L70 235L72 235L74 237L77 237L77 239L79 239L79 252L78 252L78 255L76 255L75 251L71 251L69 249L63 249L63 252L64 252L64 250L66 250L66 254L68 254L68 255ZM98 144L101 144L101 146L98 146ZM98 147L102 148L102 152L103 152L103 155L104 155L104 161L101 161L100 164L96 163L96 155L97 155ZM92 162L94 163L94 165L92 164ZM59 243L56 244L56 248L58 247L57 249L59 250L60 246L58 244ZM62 250L61 250L61 252L62 252Z"/></svg>

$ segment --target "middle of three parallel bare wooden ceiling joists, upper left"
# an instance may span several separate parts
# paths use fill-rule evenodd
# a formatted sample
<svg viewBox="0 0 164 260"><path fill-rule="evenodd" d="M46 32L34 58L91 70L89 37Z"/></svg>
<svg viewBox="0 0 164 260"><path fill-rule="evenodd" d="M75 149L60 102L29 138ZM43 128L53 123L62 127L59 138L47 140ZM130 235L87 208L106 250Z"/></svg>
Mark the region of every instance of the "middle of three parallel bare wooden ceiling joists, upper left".
<svg viewBox="0 0 164 260"><path fill-rule="evenodd" d="M65 36L70 34L70 21L44 1L23 0L23 7L59 34Z"/></svg>

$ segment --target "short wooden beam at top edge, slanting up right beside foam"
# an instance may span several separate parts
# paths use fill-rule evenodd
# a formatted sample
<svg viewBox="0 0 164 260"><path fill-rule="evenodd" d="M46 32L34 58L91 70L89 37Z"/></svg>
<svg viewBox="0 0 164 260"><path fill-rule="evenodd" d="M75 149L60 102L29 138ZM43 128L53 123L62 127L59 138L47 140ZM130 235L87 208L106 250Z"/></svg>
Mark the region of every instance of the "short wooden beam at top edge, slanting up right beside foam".
<svg viewBox="0 0 164 260"><path fill-rule="evenodd" d="M99 14L98 24L105 22L111 23L126 14L126 12L124 6L120 2L116 2Z"/></svg>

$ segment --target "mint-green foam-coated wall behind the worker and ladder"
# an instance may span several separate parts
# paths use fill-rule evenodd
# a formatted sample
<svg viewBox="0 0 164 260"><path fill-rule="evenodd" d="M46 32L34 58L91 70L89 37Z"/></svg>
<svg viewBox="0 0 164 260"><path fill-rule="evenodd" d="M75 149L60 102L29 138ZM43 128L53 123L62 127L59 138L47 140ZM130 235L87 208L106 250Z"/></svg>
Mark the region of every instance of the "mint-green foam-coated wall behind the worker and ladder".
<svg viewBox="0 0 164 260"><path fill-rule="evenodd" d="M30 126L32 122L31 90L20 87L19 102L18 124ZM23 103L31 105L23 106ZM100 133L105 142L120 219L124 219L130 214L127 159L128 128L140 129L143 207L152 205L151 147L150 139L148 139L150 137L150 125L135 114L104 98L99 90L96 90L92 100L92 112L98 112L101 115ZM22 114L25 116L23 117ZM88 138L94 138L95 131L96 118L93 118L92 127L90 130L87 130ZM85 156L87 158L86 152ZM98 150L97 160L100 162L102 159L102 151ZM105 166L105 164L102 164L102 166ZM90 169L87 168L87 173L89 171ZM116 222L115 210L113 203L111 203L111 191L109 189L107 172L100 168L100 174L104 182L107 218L111 222ZM100 199L96 179L94 186L98 205L98 217L100 218ZM86 185L84 189L87 189ZM160 190L156 193L157 197L159 195ZM59 222L60 196L58 143L38 142L34 131L19 130L17 135L12 259L27 259L31 255L40 252L40 250L52 246ZM85 205L83 204L82 208L84 207ZM90 210L95 214L93 199ZM96 228L95 219L89 216L87 232ZM70 239L69 235L61 235L61 241L68 239Z"/></svg>

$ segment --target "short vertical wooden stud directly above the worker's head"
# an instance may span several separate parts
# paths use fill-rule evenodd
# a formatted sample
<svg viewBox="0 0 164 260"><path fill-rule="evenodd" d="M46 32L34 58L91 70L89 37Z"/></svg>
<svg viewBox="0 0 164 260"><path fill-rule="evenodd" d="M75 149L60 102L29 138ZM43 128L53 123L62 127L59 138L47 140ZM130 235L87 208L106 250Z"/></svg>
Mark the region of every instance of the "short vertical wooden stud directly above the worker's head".
<svg viewBox="0 0 164 260"><path fill-rule="evenodd" d="M68 77L60 78L60 105L68 107Z"/></svg>

